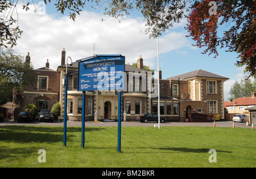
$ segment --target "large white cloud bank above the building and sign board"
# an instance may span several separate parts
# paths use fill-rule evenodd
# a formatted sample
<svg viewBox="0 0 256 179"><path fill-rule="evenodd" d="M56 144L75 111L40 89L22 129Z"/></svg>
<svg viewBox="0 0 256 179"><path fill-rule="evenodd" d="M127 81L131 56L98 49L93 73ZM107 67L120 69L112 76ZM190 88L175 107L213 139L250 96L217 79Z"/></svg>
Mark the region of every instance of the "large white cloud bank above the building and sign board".
<svg viewBox="0 0 256 179"><path fill-rule="evenodd" d="M51 69L57 69L61 61L61 51L72 60L93 55L93 43L97 54L121 54L126 63L137 62L142 55L144 64L154 66L157 56L156 39L148 39L141 18L106 18L103 14L82 11L73 22L68 16L55 18L53 15L33 10L18 9L19 26L23 30L18 39L16 50L24 55L30 52L34 68L45 66L49 59ZM181 47L188 47L188 39L183 32L168 32L159 38L160 53L166 53ZM153 68L153 67L152 67Z"/></svg>

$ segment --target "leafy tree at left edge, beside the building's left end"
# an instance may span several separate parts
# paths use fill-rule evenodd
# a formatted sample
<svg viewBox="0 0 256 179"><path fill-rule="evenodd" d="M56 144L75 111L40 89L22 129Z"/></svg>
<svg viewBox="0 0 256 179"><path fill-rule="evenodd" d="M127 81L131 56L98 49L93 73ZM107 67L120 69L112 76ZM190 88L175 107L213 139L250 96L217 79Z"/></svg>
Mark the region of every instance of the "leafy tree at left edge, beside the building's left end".
<svg viewBox="0 0 256 179"><path fill-rule="evenodd" d="M22 93L36 82L36 74L24 57L13 49L0 49L0 105L12 101L13 90Z"/></svg>

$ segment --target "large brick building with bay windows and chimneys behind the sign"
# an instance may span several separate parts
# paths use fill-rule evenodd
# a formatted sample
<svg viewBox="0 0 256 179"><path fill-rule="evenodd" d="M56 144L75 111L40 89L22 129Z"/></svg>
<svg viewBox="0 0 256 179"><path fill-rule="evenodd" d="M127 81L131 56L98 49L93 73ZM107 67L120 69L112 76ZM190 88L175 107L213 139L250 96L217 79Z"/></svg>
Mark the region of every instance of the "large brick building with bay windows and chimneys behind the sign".
<svg viewBox="0 0 256 179"><path fill-rule="evenodd" d="M61 119L64 118L65 59L63 49L61 64L56 71L49 69L47 64L46 67L36 69L38 84L36 88L25 91L24 101L35 103L39 110L51 109L53 103L60 101ZM158 97L155 95L158 86L154 73L143 69L142 56L139 56L137 63L138 68L125 65L127 79L122 93L121 109L126 111L126 120L134 120L137 115L143 113L158 112ZM82 109L82 91L77 91L78 62L67 66L67 118L77 120L81 119ZM159 78L160 115L165 116L167 120L192 119L192 116L195 118L193 114L215 114L224 119L223 84L228 78L201 69L166 80L162 79L162 71L159 69ZM151 88L154 91L149 90ZM85 120L117 119L117 91L86 91L85 95Z"/></svg>

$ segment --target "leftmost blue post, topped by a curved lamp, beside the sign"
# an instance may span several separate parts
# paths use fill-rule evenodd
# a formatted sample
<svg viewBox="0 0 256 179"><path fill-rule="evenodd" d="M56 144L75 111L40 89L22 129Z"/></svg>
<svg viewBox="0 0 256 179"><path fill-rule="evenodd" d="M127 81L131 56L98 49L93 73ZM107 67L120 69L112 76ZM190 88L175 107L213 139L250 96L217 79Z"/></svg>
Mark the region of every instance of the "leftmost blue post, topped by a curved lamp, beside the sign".
<svg viewBox="0 0 256 179"><path fill-rule="evenodd" d="M66 75L65 75L65 94L64 94L64 134L63 134L63 145L67 146L67 96L68 96L68 58L71 60L70 66L73 65L71 57L67 57L66 63Z"/></svg>

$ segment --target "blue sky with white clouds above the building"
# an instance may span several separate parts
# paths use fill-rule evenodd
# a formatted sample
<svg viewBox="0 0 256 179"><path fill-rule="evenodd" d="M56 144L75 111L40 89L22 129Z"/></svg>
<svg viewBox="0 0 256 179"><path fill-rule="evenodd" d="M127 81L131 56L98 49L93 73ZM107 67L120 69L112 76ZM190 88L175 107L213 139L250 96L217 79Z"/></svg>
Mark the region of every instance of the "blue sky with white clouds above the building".
<svg viewBox="0 0 256 179"><path fill-rule="evenodd" d="M118 22L105 16L103 7L97 10L86 8L73 22L67 14L58 13L53 3L44 5L43 1L36 0L34 4L31 0L23 2L30 2L30 10L22 10L21 5L17 8L18 26L23 33L14 49L24 56L30 52L34 69L45 66L48 59L49 68L57 70L63 48L66 57L70 56L73 62L92 56L93 44L96 54L120 54L125 56L126 64L137 63L141 55L144 65L149 65L151 69L158 68L157 40L149 39L144 34L145 22L138 12ZM101 19L107 20L102 22ZM216 58L214 55L201 54L203 49L193 47L195 41L185 37L188 35L184 29L186 23L187 20L183 18L159 36L162 79L203 69L229 78L224 82L224 100L228 101L230 86L245 77L244 68L235 65L238 54L225 52L225 49L219 49ZM225 25L227 28L229 26Z"/></svg>

